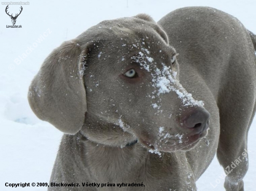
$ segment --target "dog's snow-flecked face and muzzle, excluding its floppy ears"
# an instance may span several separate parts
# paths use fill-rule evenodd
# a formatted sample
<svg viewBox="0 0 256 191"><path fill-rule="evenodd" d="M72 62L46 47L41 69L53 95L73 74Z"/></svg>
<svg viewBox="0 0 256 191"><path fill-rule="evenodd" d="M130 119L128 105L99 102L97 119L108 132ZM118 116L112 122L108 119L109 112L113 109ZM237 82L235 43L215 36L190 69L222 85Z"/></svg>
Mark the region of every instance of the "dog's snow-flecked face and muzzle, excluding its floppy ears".
<svg viewBox="0 0 256 191"><path fill-rule="evenodd" d="M125 18L92 30L101 38L82 63L86 137L121 147L138 140L155 153L195 146L207 134L209 113L179 83L177 54L162 29Z"/></svg>

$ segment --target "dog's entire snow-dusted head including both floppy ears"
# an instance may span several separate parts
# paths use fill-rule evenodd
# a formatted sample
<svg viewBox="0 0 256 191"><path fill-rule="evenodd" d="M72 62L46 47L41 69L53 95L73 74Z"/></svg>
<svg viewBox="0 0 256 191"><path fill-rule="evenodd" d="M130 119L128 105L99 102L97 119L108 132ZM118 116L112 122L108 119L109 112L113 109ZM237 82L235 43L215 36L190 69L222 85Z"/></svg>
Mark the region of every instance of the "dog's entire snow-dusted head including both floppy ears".
<svg viewBox="0 0 256 191"><path fill-rule="evenodd" d="M186 150L209 113L179 83L175 49L148 15L107 20L55 49L28 94L34 113L67 134L151 151Z"/></svg>

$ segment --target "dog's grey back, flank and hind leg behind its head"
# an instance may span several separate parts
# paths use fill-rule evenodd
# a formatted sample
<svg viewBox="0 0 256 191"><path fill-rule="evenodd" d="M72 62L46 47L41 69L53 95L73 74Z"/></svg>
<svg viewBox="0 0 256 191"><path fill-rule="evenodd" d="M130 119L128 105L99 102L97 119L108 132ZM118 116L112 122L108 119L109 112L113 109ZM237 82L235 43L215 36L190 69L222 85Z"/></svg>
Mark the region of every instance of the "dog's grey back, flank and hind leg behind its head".
<svg viewBox="0 0 256 191"><path fill-rule="evenodd" d="M211 123L208 139L218 139L220 123L217 157L228 175L225 188L240 191L248 169L248 158L243 154L247 151L247 134L256 109L256 36L238 19L210 7L178 9L158 24L179 54L182 85L195 98L207 100L205 108L211 118L217 119L215 114L220 116L220 122ZM219 111L211 112L215 104ZM190 151L189 157L195 159L201 149ZM229 166L240 157L240 165L229 172Z"/></svg>

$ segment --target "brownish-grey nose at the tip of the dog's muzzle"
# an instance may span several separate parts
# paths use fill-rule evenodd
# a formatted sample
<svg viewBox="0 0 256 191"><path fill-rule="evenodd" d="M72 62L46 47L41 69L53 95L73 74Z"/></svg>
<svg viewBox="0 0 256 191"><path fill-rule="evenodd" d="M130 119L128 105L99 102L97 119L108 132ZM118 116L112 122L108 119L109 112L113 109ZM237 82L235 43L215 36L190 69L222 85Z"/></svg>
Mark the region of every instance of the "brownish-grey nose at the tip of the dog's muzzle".
<svg viewBox="0 0 256 191"><path fill-rule="evenodd" d="M196 128L202 133L209 126L210 114L206 109L196 110L184 119L184 125L188 128Z"/></svg>

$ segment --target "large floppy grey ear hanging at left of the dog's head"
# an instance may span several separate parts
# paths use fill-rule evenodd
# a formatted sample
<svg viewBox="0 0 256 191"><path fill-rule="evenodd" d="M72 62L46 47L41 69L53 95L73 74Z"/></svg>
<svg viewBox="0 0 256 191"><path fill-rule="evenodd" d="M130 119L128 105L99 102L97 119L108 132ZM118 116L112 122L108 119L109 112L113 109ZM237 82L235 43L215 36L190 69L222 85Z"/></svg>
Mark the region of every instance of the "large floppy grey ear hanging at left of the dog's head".
<svg viewBox="0 0 256 191"><path fill-rule="evenodd" d="M77 133L87 111L82 63L87 49L74 40L64 42L44 61L28 92L30 107L38 118L66 134Z"/></svg>

